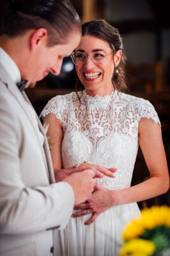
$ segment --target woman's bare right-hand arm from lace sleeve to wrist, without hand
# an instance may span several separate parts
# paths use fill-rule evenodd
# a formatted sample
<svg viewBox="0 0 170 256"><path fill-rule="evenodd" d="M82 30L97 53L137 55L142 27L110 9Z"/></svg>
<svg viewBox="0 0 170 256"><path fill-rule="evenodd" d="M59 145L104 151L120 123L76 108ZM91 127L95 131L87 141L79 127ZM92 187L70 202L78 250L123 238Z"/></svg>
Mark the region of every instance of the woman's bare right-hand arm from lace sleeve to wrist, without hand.
<svg viewBox="0 0 170 256"><path fill-rule="evenodd" d="M150 178L131 188L117 191L117 204L128 204L166 193L169 174L159 124L142 118L139 122L139 145L143 152Z"/></svg>

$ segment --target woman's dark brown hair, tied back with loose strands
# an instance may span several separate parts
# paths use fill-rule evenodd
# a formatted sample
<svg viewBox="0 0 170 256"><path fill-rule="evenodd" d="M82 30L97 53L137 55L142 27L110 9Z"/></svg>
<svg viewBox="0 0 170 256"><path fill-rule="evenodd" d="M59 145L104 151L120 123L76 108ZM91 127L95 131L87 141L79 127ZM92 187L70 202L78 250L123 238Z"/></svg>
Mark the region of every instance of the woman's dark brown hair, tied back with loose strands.
<svg viewBox="0 0 170 256"><path fill-rule="evenodd" d="M108 42L110 48L113 51L113 55L119 49L122 50L122 57L117 68L114 69L112 83L113 88L118 90L118 92L126 92L128 91L127 83L125 82L125 54L123 52L123 44L122 37L117 28L114 28L106 20L92 20L89 22L85 22L82 26L82 36L90 35L95 36L97 38L101 38L104 41ZM118 70L116 72L116 70ZM83 84L81 84L80 80L76 76L76 91L77 88L80 90L83 89ZM80 98L80 97L79 97Z"/></svg>

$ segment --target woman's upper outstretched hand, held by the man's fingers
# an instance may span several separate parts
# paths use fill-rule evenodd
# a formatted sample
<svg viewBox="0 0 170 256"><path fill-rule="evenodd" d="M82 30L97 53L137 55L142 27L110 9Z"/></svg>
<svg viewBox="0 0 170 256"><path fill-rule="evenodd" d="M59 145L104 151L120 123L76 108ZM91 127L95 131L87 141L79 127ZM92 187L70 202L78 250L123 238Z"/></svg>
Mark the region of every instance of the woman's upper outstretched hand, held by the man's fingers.
<svg viewBox="0 0 170 256"><path fill-rule="evenodd" d="M82 163L78 167L85 167L86 169L94 170L94 172L96 173L96 178L101 178L104 175L108 177L115 177L114 173L117 171L117 168L104 168L103 166L97 164L90 164L88 162Z"/></svg>

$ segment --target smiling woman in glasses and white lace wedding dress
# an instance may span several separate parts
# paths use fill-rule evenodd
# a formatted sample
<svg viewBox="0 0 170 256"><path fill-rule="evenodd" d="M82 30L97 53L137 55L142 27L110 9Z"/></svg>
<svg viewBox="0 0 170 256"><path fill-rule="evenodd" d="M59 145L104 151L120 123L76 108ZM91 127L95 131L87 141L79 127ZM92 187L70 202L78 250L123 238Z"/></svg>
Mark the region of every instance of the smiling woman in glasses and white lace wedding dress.
<svg viewBox="0 0 170 256"><path fill-rule="evenodd" d="M84 90L54 97L41 113L55 143L55 172L62 166L117 168L115 178L97 179L92 197L76 206L58 232L55 255L118 255L122 230L139 214L136 202L169 188L159 118L148 100L124 93L124 59L118 29L104 20L83 24L72 60ZM139 145L150 178L131 186Z"/></svg>

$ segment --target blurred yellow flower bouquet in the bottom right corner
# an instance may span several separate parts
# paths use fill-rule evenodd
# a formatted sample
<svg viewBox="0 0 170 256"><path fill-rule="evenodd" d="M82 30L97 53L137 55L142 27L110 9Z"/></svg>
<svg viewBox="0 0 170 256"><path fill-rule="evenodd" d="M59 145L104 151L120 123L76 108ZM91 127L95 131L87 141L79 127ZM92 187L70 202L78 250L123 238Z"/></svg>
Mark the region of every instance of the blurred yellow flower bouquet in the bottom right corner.
<svg viewBox="0 0 170 256"><path fill-rule="evenodd" d="M143 209L127 225L123 238L119 256L170 256L170 207Z"/></svg>

